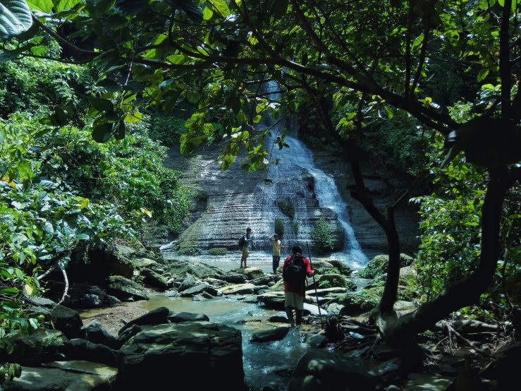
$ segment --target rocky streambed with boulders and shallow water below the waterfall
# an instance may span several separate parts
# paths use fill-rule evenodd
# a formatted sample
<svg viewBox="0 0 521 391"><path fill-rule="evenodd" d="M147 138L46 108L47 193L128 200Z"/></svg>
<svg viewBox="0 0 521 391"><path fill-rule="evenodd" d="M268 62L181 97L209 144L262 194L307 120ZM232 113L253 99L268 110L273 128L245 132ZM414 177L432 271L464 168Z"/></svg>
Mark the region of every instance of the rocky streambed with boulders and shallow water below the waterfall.
<svg viewBox="0 0 521 391"><path fill-rule="evenodd" d="M362 359L369 347L341 349L345 332L361 346L374 342L374 330L357 325L379 299L372 289L385 279L385 257L360 273L366 279L336 260L315 260L304 325L294 330L282 312L280 275L258 267L223 270L209 263L166 261L124 246L102 259L94 282L71 270L65 303L78 311L49 299L28 299L29 311L43 315L51 329L14 338L13 354L4 361L19 362L23 373L2 390L137 390L173 384L192 390L384 390L401 384L399 356L380 353L388 357L382 363ZM403 268L403 288L414 274L414 267ZM360 294L362 286L368 289ZM396 303L404 313L414 308L409 301ZM407 388L422 389L428 388Z"/></svg>

